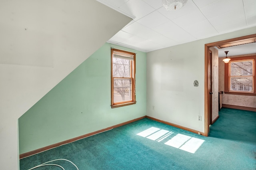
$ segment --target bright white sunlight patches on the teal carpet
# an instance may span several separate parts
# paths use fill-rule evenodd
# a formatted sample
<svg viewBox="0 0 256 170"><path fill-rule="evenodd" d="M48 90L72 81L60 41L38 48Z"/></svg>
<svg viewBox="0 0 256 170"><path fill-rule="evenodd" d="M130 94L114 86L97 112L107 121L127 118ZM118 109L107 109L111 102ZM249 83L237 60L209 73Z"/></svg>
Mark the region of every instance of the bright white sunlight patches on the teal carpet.
<svg viewBox="0 0 256 170"><path fill-rule="evenodd" d="M161 142L162 140L164 140L173 133L174 132L168 130L151 127L142 132L137 133L137 135ZM184 134L177 134L164 144L194 154L196 150L198 150L198 148L200 148L200 146L204 143L204 141L205 140L194 138Z"/></svg>

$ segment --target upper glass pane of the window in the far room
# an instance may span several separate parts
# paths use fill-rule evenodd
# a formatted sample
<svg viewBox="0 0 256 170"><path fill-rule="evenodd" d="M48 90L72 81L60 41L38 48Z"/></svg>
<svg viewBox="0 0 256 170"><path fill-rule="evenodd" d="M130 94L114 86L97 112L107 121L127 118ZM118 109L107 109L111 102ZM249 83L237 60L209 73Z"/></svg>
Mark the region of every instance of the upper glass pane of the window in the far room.
<svg viewBox="0 0 256 170"><path fill-rule="evenodd" d="M231 76L252 75L252 60L231 62Z"/></svg>

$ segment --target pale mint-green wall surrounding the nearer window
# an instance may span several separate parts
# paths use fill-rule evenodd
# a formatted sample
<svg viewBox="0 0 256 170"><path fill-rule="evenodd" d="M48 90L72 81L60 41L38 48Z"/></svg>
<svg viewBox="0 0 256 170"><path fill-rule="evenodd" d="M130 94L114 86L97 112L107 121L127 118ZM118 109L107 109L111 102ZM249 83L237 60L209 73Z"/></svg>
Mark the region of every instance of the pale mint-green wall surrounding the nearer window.
<svg viewBox="0 0 256 170"><path fill-rule="evenodd" d="M111 47L136 53L136 105L111 109ZM19 118L20 154L146 115L146 53L105 43Z"/></svg>

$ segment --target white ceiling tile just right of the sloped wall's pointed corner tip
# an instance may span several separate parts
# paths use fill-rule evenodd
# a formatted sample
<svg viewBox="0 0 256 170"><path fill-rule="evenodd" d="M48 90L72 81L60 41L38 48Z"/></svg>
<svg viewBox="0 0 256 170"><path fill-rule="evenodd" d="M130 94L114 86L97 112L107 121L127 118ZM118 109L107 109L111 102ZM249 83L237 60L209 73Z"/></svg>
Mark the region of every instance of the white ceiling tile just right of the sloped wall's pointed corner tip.
<svg viewBox="0 0 256 170"><path fill-rule="evenodd" d="M169 21L170 20L168 18L160 14L158 11L154 11L140 20L137 20L138 23L148 28L154 28Z"/></svg>

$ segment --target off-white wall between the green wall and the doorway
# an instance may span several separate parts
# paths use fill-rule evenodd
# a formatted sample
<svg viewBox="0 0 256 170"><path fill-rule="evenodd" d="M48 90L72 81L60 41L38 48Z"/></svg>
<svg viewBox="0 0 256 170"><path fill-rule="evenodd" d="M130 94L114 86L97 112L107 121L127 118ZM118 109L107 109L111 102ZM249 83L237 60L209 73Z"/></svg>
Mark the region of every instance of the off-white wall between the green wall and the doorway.
<svg viewBox="0 0 256 170"><path fill-rule="evenodd" d="M255 28L148 52L147 116L204 132L205 44L256 34Z"/></svg>

